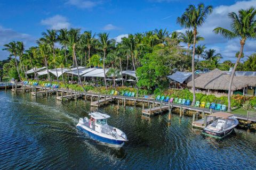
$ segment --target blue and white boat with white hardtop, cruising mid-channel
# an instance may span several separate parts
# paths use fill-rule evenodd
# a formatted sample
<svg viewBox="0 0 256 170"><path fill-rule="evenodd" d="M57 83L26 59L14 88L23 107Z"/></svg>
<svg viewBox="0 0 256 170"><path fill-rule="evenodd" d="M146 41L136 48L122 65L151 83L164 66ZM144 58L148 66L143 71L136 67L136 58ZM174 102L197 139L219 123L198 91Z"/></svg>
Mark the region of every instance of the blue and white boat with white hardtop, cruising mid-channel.
<svg viewBox="0 0 256 170"><path fill-rule="evenodd" d="M79 118L79 123L76 125L79 130L87 133L94 140L116 147L124 145L127 137L121 130L108 125L109 115L100 112L92 112L89 115L91 116L90 119L87 117Z"/></svg>

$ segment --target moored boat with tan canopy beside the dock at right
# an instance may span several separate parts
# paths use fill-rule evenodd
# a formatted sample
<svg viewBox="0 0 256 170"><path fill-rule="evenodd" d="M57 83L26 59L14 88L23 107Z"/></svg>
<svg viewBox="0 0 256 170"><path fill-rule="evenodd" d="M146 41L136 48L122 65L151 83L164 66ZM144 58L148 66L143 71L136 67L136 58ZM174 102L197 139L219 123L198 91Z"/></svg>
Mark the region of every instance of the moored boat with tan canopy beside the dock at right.
<svg viewBox="0 0 256 170"><path fill-rule="evenodd" d="M238 125L238 120L233 114L226 112L216 112L210 116L214 117L214 121L203 129L203 134L209 137L222 139L234 131Z"/></svg>

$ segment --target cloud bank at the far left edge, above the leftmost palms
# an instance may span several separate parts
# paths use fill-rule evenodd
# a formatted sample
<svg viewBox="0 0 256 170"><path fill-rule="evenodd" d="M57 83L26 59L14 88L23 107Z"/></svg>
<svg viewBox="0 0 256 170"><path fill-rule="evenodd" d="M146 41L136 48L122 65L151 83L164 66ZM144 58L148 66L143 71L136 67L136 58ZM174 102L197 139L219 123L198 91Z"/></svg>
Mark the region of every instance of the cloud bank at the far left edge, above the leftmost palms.
<svg viewBox="0 0 256 170"><path fill-rule="evenodd" d="M33 45L35 43L35 38L26 34L14 31L9 28L4 28L0 25L0 60L4 60L9 56L9 53L3 51L4 44L8 44L11 41L23 41L25 47Z"/></svg>

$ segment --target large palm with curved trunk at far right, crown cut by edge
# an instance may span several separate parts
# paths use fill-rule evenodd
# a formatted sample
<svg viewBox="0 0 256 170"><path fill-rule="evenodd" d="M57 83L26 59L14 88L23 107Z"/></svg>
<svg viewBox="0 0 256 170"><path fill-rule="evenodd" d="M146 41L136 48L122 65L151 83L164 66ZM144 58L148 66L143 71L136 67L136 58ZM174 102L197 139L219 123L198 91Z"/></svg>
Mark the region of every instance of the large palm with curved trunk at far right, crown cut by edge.
<svg viewBox="0 0 256 170"><path fill-rule="evenodd" d="M231 73L230 81L228 84L228 112L231 112L231 86L233 83L236 67L242 57L243 49L245 45L245 41L247 39L255 38L255 26L256 26L256 10L254 7L251 7L247 10L239 10L238 14L235 12L231 12L228 14L229 18L231 19L231 30L217 27L213 31L215 33L219 33L225 38L233 39L239 37L240 39L240 52L237 57L236 63L234 65L234 69Z"/></svg>

